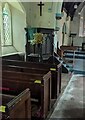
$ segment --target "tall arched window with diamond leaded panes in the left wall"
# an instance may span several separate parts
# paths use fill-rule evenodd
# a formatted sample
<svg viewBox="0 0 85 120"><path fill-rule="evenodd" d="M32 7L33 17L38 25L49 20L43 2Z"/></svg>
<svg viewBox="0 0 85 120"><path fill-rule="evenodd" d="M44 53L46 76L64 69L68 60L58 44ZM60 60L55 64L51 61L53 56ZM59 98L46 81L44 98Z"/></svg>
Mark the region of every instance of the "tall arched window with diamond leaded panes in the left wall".
<svg viewBox="0 0 85 120"><path fill-rule="evenodd" d="M11 11L8 3L2 9L3 40L2 46L12 45Z"/></svg>

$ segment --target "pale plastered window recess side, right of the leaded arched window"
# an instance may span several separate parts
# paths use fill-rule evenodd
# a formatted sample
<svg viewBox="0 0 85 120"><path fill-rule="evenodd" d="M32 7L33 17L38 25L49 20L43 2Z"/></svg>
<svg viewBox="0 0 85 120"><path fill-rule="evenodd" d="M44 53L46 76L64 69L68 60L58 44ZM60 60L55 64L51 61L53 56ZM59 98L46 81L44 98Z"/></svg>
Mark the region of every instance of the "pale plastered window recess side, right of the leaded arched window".
<svg viewBox="0 0 85 120"><path fill-rule="evenodd" d="M18 52L25 52L26 14L12 7L13 46Z"/></svg>

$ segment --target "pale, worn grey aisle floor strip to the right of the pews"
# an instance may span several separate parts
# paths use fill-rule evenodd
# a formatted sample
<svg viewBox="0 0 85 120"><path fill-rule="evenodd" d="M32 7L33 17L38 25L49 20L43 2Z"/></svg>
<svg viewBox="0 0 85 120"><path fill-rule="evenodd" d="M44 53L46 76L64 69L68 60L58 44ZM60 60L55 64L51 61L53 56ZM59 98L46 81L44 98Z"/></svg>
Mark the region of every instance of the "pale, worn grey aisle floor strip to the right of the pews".
<svg viewBox="0 0 85 120"><path fill-rule="evenodd" d="M83 118L83 82L85 76L73 75L58 101L50 119ZM49 120L50 120L49 119Z"/></svg>

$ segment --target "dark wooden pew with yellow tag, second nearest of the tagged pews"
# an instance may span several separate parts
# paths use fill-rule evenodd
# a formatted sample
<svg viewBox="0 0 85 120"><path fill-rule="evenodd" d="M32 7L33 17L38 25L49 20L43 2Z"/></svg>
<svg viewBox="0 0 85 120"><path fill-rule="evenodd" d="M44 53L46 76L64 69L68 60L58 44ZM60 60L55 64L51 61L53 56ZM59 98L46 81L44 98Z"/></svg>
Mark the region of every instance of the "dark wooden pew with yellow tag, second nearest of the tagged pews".
<svg viewBox="0 0 85 120"><path fill-rule="evenodd" d="M38 101L40 109L40 116L45 118L50 109L51 102L51 72L46 75L30 74L16 71L2 71L2 86L8 89L8 93L16 94L29 88L31 91L31 98ZM4 90L4 93L7 90Z"/></svg>

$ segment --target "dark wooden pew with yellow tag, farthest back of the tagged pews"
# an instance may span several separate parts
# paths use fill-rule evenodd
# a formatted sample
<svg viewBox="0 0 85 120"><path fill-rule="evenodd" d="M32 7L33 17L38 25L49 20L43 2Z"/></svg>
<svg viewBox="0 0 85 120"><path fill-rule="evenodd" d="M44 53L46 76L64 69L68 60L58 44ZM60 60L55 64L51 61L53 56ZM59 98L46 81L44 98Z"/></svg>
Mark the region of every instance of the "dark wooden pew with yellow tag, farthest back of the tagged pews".
<svg viewBox="0 0 85 120"><path fill-rule="evenodd" d="M30 71L32 71L33 73L40 73L40 71L42 71L42 73L51 71L51 78L52 78L52 83L51 83L51 94L52 94L52 98L57 98L57 96L59 95L59 93L61 92L61 72L62 72L62 64L59 63L58 65L55 64L45 64L45 63L31 63L31 62L23 62L23 61L16 61L16 60L6 60L3 59L2 60L2 65L7 66L7 65L11 65L11 66L18 66L17 70L20 70L20 68L25 71L25 72L29 72L28 68L32 69ZM9 66L10 67L10 66ZM5 69L7 69L5 67ZM11 67L11 70L16 69Z"/></svg>

